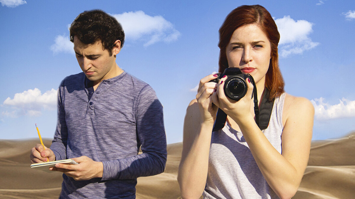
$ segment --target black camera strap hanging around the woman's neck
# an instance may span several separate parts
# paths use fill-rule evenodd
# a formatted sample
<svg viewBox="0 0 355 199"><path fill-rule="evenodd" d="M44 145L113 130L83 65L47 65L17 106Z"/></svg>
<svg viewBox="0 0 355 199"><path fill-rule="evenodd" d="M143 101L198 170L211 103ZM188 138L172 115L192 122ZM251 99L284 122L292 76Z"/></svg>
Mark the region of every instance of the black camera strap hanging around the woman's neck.
<svg viewBox="0 0 355 199"><path fill-rule="evenodd" d="M255 122L258 125L260 130L264 130L269 126L271 112L274 106L274 99L269 100L270 92L267 88L265 88L264 95L262 97L261 104L260 104L260 110L259 110L256 85L252 77L251 80L254 86L253 95L254 95ZM217 118L216 121L214 122L212 131L218 131L222 129L225 125L226 120L227 120L227 114L225 114L223 110L218 108Z"/></svg>

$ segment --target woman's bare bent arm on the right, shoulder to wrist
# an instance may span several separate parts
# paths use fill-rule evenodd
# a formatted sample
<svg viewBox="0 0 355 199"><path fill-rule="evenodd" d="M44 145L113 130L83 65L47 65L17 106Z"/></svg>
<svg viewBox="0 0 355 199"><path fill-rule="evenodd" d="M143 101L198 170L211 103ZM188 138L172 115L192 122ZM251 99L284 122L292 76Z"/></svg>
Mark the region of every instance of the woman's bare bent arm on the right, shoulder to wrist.
<svg viewBox="0 0 355 199"><path fill-rule="evenodd" d="M280 198L296 193L306 169L312 140L314 108L308 99L286 94L282 154L251 119L239 127L269 186Z"/></svg>

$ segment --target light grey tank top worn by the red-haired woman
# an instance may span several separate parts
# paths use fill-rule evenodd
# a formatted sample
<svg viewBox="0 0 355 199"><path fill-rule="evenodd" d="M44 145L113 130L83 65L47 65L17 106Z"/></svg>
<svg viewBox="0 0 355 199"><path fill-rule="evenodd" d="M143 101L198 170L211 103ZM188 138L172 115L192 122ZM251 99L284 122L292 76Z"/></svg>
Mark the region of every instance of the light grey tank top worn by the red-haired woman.
<svg viewBox="0 0 355 199"><path fill-rule="evenodd" d="M275 98L269 126L262 132L281 151L285 93ZM243 134L228 123L212 132L203 198L278 198L262 175Z"/></svg>

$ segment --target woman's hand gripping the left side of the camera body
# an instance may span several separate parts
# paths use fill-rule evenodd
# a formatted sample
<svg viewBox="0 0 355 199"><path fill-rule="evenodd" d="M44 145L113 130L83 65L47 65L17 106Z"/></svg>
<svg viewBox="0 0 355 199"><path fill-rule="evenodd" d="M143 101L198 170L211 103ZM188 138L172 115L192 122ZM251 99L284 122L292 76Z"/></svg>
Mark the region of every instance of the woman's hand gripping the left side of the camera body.
<svg viewBox="0 0 355 199"><path fill-rule="evenodd" d="M217 89L217 83L209 82L218 77L217 74L207 75L200 80L196 99L200 108L201 123L214 123L218 107L212 104L212 94Z"/></svg>

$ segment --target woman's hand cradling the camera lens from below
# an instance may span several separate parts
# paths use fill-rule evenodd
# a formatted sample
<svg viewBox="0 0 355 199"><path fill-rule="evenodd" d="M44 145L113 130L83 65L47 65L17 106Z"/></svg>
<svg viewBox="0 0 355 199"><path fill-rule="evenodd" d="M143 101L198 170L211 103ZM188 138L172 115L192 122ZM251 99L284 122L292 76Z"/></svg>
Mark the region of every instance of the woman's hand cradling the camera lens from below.
<svg viewBox="0 0 355 199"><path fill-rule="evenodd" d="M252 93L253 93L253 84L251 83L250 78L246 79L248 86L247 92L244 97L235 101L227 97L224 93L224 83L227 79L227 76L224 76L219 80L217 91L212 95L213 104L218 108L222 109L227 115L229 115L237 124L241 123L244 118L250 118L253 114L251 113L251 103L252 103Z"/></svg>

